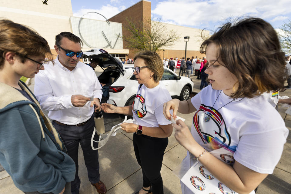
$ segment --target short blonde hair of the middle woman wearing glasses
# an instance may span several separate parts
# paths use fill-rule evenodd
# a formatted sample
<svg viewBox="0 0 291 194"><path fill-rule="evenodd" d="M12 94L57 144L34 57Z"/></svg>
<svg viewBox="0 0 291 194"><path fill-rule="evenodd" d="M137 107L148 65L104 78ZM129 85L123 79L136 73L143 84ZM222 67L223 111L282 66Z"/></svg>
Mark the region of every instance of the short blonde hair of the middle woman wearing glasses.
<svg viewBox="0 0 291 194"><path fill-rule="evenodd" d="M134 61L135 59L143 59L145 61L145 64L149 67L149 69L154 72L152 77L155 82L159 82L162 79L164 65L161 57L156 52L141 51L135 55Z"/></svg>

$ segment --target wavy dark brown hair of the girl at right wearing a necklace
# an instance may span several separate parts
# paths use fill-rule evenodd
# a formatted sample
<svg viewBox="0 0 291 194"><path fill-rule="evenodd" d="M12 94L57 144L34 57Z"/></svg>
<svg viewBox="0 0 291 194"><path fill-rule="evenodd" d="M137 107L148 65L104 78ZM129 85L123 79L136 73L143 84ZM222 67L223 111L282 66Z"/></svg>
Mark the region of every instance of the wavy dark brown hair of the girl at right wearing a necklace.
<svg viewBox="0 0 291 194"><path fill-rule="evenodd" d="M234 25L226 23L202 43L202 54L210 43L217 46L218 62L238 79L232 98L242 94L253 98L284 88L284 53L277 33L268 22L246 18Z"/></svg>

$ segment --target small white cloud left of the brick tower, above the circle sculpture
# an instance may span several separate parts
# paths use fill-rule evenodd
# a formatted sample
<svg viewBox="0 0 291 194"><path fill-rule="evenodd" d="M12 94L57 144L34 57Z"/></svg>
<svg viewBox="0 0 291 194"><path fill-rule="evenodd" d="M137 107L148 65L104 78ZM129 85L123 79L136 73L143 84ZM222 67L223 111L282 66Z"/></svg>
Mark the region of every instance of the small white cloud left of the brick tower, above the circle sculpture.
<svg viewBox="0 0 291 194"><path fill-rule="evenodd" d="M124 9L123 6L120 7L114 7L112 5L103 5L100 9L84 9L81 8L79 9L77 12L73 13L73 16L76 17L82 17L82 15L88 13L88 12L97 12L101 15L104 15L105 18L109 19L112 16L118 14L119 12L121 12ZM90 18L90 19L98 19L98 20L105 20L105 18L103 18L101 15L99 14L94 14L94 13L90 13L85 15L85 18Z"/></svg>

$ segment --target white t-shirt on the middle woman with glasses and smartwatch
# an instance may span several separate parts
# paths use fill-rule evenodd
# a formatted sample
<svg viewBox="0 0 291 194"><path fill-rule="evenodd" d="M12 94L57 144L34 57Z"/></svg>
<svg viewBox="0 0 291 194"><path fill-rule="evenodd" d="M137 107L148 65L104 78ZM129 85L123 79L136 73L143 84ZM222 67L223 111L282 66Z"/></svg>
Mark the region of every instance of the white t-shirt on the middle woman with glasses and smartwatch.
<svg viewBox="0 0 291 194"><path fill-rule="evenodd" d="M163 115L163 105L171 99L170 93L161 82L154 88L142 85L132 103L134 123L146 127L171 124Z"/></svg>

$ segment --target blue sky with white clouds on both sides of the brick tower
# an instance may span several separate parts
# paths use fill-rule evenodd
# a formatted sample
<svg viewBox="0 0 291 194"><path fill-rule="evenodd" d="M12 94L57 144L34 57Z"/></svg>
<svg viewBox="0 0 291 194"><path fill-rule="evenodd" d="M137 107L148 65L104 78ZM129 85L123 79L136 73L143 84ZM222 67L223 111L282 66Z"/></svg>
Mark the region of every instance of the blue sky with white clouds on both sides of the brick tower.
<svg viewBox="0 0 291 194"><path fill-rule="evenodd" d="M74 16L98 12L110 18L140 0L71 0ZM80 5L80 2L82 5ZM290 0L153 0L151 13L162 22L215 30L228 17L259 17L276 29L291 20ZM89 18L104 20L98 14Z"/></svg>

